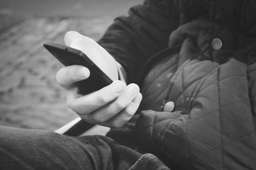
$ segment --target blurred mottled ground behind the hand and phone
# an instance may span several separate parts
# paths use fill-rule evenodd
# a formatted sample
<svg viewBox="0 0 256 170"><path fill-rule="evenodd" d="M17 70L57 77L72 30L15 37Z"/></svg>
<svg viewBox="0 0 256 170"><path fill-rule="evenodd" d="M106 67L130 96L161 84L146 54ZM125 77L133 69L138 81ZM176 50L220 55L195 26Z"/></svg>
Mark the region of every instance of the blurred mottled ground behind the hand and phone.
<svg viewBox="0 0 256 170"><path fill-rule="evenodd" d="M55 81L62 67L42 44L67 31L99 39L143 0L0 0L0 125L54 131L76 118Z"/></svg>

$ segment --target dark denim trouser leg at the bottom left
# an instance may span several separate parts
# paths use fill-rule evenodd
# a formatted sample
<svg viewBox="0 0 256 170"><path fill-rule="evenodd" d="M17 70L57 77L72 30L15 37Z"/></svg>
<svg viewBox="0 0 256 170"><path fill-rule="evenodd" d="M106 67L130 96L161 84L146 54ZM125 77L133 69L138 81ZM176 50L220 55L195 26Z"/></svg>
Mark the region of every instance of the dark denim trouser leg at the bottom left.
<svg viewBox="0 0 256 170"><path fill-rule="evenodd" d="M108 136L65 136L0 126L0 169L168 169Z"/></svg>

